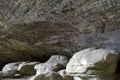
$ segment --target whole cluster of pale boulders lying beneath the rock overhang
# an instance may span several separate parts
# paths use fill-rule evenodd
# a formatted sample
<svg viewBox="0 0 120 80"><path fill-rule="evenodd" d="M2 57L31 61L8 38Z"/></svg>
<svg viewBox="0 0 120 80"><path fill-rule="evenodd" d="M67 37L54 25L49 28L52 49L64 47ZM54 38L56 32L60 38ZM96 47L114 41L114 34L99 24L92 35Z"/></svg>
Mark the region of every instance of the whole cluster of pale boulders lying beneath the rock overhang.
<svg viewBox="0 0 120 80"><path fill-rule="evenodd" d="M69 60L62 55L53 55L45 63L14 62L1 71L4 78L31 76L30 80L82 80L86 77L113 75L118 54L114 50L88 48L79 51Z"/></svg>

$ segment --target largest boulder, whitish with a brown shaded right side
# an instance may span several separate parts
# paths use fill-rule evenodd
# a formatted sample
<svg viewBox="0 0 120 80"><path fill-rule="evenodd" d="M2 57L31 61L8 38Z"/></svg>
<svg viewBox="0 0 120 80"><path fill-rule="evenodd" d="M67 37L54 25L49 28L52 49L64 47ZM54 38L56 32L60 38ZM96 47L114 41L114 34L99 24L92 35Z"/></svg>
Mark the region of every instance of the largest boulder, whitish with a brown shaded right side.
<svg viewBox="0 0 120 80"><path fill-rule="evenodd" d="M111 75L116 71L117 60L114 50L88 48L74 54L66 72L81 77Z"/></svg>

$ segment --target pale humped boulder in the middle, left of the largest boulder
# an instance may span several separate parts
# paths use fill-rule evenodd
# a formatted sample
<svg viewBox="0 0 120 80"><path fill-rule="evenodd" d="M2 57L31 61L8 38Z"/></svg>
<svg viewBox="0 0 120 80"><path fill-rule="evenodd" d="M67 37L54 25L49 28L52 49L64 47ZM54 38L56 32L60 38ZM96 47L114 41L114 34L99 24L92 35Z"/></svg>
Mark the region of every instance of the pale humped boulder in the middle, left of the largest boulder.
<svg viewBox="0 0 120 80"><path fill-rule="evenodd" d="M45 74L51 71L59 71L65 68L68 58L61 55L53 55L46 63L35 65L36 74Z"/></svg>

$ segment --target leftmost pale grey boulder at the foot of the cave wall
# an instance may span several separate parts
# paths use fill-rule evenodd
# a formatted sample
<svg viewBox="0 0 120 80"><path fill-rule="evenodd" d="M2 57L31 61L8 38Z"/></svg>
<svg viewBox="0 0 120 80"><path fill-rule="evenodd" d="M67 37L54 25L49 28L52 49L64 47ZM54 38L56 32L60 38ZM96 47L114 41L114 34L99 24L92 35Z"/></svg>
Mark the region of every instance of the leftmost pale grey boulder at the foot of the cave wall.
<svg viewBox="0 0 120 80"><path fill-rule="evenodd" d="M18 72L18 66L21 62L6 64L2 69L2 77L15 77Z"/></svg>

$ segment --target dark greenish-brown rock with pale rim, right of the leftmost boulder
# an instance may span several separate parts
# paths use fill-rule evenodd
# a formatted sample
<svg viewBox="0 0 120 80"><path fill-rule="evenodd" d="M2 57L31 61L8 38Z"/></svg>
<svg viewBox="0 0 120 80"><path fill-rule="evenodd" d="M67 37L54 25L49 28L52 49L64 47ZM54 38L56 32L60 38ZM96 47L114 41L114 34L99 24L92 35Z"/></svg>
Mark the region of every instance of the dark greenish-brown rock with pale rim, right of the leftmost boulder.
<svg viewBox="0 0 120 80"><path fill-rule="evenodd" d="M38 64L38 62L22 62L19 65L18 71L22 75L34 75L36 74L36 70L34 66Z"/></svg>

